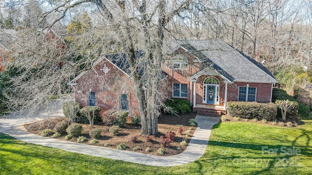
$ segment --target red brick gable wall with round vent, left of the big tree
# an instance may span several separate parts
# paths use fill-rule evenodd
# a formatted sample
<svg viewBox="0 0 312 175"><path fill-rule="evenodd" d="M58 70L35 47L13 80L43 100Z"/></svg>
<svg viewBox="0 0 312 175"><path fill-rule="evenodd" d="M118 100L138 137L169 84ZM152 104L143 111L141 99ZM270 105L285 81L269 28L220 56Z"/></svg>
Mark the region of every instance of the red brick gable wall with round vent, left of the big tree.
<svg viewBox="0 0 312 175"><path fill-rule="evenodd" d="M104 65L110 69L106 75L100 70ZM124 93L128 95L129 112L140 115L134 82L106 59L96 65L92 72L80 77L77 83L74 88L75 99L81 106L88 105L88 93L91 89L95 92L96 105L102 110L120 109L119 96Z"/></svg>

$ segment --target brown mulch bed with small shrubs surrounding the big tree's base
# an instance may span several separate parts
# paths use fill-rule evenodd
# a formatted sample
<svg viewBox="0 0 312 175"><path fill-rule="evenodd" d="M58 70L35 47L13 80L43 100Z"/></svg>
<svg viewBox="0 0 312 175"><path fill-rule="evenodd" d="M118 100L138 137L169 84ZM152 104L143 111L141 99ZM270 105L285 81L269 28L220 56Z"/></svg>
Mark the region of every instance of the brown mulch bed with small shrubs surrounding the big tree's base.
<svg viewBox="0 0 312 175"><path fill-rule="evenodd" d="M196 127L190 126L188 121L190 119L194 119L196 113L187 113L187 114L180 114L179 116L176 115L169 115L169 114L162 114L158 118L158 134L150 141L147 142L145 140L145 136L141 135L141 126L133 126L131 125L131 120L127 119L127 124L120 129L120 132L117 135L113 135L109 132L110 126L104 125L94 125L95 128L101 129L101 137L97 139L98 143L94 144L96 146L108 147L117 149L117 145L124 143L127 145L126 150L134 151L135 147L138 147L138 150L135 152L150 154L150 155L158 155L157 150L159 148L163 148L165 151L164 156L172 156L183 152L187 145L181 146L180 142L183 138L187 139L187 143L191 140L193 133L195 132ZM28 132L40 135L44 129L52 129L57 123L66 121L65 118L53 118L43 120L36 123L25 124L24 127L27 129ZM81 136L84 136L88 139L88 141L84 142L84 144L90 144L89 141L92 140L89 136L89 131L92 129L89 124L82 125L82 133ZM179 127L183 127L182 135L178 133ZM186 131L190 130L190 134L186 134ZM173 140L169 147L162 147L159 143L159 138L161 136L166 135L167 132L172 131L176 133L176 139ZM132 142L131 138L136 136L137 141ZM50 136L54 138L54 136ZM65 135L56 138L60 140L65 140ZM77 138L72 138L69 141L77 142ZM150 151L146 152L146 148L149 148Z"/></svg>

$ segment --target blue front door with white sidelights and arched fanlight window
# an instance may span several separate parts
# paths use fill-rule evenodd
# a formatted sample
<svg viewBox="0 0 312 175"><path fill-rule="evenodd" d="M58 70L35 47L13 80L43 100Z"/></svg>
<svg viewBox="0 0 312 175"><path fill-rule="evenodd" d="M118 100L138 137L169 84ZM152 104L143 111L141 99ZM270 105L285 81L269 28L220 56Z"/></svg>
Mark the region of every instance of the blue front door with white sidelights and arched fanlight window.
<svg viewBox="0 0 312 175"><path fill-rule="evenodd" d="M219 104L219 81L211 76L204 80L203 83L203 103Z"/></svg>

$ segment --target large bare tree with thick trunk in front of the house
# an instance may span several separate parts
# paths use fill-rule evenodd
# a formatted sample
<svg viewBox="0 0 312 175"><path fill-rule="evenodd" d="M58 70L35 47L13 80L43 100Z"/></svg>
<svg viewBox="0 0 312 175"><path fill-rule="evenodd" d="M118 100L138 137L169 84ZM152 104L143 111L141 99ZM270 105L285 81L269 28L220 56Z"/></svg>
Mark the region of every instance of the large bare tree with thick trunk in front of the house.
<svg viewBox="0 0 312 175"><path fill-rule="evenodd" d="M35 3L35 0L29 3ZM167 25L179 13L189 9L191 0L59 0L42 7L38 23L50 21L38 31L37 26L22 27L12 57L20 76L12 78L7 89L11 103L29 106L42 102L47 95L66 92L66 82L98 56L125 53L135 82L141 115L141 134L156 135L158 116L163 106L161 97L161 64L166 58L167 40L175 31ZM39 4L38 2L36 2ZM92 25L83 34L66 43L59 38L44 38L50 27L58 25L78 8L94 12ZM90 24L91 25L91 24ZM61 36L60 36L61 37ZM61 46L60 43L65 44ZM136 57L136 51L144 55ZM18 93L19 92L19 93ZM15 102L15 103L14 103Z"/></svg>

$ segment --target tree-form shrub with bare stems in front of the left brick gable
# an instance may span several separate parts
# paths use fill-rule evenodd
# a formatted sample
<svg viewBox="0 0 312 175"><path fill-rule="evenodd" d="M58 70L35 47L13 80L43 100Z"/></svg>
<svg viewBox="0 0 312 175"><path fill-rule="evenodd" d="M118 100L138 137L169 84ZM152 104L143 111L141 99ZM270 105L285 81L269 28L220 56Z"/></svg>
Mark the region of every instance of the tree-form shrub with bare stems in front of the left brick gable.
<svg viewBox="0 0 312 175"><path fill-rule="evenodd" d="M100 111L101 111L101 108L99 108L98 106L85 106L81 108L80 114L81 114L82 122L85 124L91 123L92 124L91 127L93 127L93 123L100 123L101 122L101 118L99 116ZM93 119L93 123L92 123L92 119Z"/></svg>

